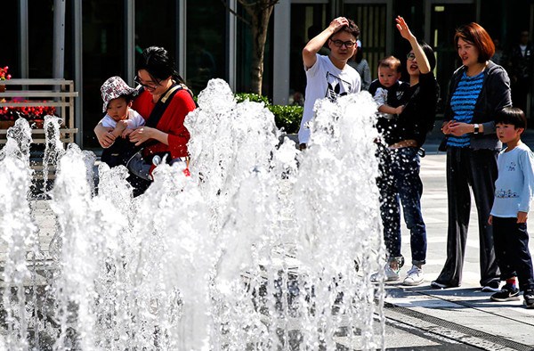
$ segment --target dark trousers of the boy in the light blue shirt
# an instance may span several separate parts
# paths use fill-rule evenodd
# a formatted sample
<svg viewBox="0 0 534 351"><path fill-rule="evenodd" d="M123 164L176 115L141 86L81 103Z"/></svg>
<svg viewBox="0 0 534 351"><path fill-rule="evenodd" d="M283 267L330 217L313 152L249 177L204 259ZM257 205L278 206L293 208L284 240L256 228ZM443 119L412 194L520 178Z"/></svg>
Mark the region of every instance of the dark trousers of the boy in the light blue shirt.
<svg viewBox="0 0 534 351"><path fill-rule="evenodd" d="M493 241L501 280L516 276L522 290L534 288L527 224L517 223L517 218L494 216Z"/></svg>

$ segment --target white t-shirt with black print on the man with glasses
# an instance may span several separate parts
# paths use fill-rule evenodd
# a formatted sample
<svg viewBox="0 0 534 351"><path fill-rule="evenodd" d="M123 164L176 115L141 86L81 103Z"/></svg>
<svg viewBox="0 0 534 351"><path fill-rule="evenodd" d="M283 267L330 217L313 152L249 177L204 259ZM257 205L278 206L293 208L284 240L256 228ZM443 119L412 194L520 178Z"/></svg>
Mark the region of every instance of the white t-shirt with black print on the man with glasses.
<svg viewBox="0 0 534 351"><path fill-rule="evenodd" d="M315 115L313 106L319 99L328 98L336 101L337 97L359 93L361 89L360 74L346 64L338 69L328 56L316 55L317 61L306 70L306 95L301 126L298 131L298 142L308 143L310 140L310 122Z"/></svg>

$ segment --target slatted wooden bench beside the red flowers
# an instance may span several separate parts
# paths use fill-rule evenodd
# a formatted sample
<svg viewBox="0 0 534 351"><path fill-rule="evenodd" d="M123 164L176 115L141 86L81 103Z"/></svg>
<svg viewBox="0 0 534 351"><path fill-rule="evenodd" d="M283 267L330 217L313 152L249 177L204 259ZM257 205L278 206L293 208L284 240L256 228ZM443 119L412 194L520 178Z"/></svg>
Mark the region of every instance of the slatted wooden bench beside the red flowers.
<svg viewBox="0 0 534 351"><path fill-rule="evenodd" d="M65 79L10 79L0 81L5 91L0 92L0 107L55 107L56 115L62 119L61 142L74 143L78 129L74 125L74 82ZM30 89L34 87L35 89ZM23 102L13 101L20 98ZM18 100L18 99L17 99ZM6 142L7 128L0 128L0 144ZM45 143L43 127L32 127L33 143Z"/></svg>

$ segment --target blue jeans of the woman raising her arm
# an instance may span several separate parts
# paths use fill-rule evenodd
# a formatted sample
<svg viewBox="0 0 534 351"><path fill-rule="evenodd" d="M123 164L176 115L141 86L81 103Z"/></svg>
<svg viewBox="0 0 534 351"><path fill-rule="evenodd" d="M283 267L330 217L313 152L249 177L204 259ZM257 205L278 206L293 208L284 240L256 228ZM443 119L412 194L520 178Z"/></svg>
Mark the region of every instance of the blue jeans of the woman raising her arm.
<svg viewBox="0 0 534 351"><path fill-rule="evenodd" d="M379 153L380 215L384 224L384 242L390 261L401 255L401 204L410 232L413 265L425 265L426 227L421 213L423 183L419 177L418 149L383 149Z"/></svg>

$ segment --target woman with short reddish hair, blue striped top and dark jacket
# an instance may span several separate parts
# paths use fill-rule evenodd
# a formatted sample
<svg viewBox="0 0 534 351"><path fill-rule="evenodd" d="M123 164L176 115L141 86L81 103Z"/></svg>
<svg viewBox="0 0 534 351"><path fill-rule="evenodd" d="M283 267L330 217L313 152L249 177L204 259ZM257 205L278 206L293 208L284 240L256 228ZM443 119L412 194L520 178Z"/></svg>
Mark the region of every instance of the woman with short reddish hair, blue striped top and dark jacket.
<svg viewBox="0 0 534 351"><path fill-rule="evenodd" d="M510 79L505 69L490 61L495 47L479 24L461 26L454 40L462 66L450 79L449 101L441 126L447 150L447 260L431 285L447 289L462 283L471 187L478 212L481 287L483 291L498 291L499 271L488 217L497 180L497 156L502 147L494 118L500 110L512 106Z"/></svg>

